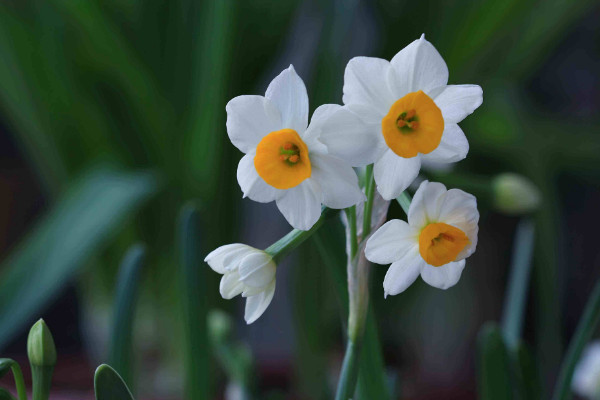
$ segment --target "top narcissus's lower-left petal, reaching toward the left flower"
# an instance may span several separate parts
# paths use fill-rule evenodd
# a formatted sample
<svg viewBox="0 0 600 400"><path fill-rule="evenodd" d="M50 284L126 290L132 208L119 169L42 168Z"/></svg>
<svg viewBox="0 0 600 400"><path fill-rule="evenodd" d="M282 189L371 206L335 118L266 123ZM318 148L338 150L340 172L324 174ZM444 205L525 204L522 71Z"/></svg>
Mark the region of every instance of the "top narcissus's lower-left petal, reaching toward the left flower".
<svg viewBox="0 0 600 400"><path fill-rule="evenodd" d="M353 167L375 162L386 148L381 121L367 123L347 107L340 107L323 123L320 137L329 154Z"/></svg>

